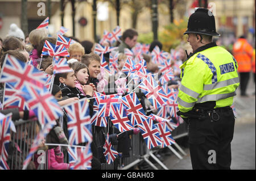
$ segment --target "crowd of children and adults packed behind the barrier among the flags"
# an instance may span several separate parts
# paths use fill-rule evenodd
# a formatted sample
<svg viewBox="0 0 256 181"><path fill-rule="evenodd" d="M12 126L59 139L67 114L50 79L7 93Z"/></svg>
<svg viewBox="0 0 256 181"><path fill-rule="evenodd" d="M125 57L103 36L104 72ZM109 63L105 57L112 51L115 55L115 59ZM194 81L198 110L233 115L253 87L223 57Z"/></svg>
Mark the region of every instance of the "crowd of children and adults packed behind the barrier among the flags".
<svg viewBox="0 0 256 181"><path fill-rule="evenodd" d="M12 24L11 26L16 26ZM15 31L13 31L15 29ZM64 35L65 36L65 35ZM76 102L77 100L88 98L89 102L89 112L90 116L93 117L93 105L96 101L93 99L94 92L101 92L101 94L109 95L116 94L120 90L117 90L117 87L112 87L111 85L115 85L115 81L120 77L125 77L129 79L126 74L122 73L123 65L127 60L127 54L125 49L129 49L132 52L136 52L136 47L138 45L137 38L138 32L134 29L128 29L123 31L122 37L119 41L116 41L114 44L111 44L106 41L102 41L101 45L105 47L118 47L114 50L114 53L118 54L118 66L115 69L114 76L106 73L104 69L102 69L101 61L102 58L110 64L110 53L104 53L103 56L99 56L94 52L95 43L85 40L80 41L76 37L69 37L72 40L75 40L75 43L71 44L68 48L69 57L67 57L67 62L69 64L69 68L71 71L65 73L55 74L54 84L52 86L51 94L55 97L60 106L65 106L67 104ZM29 35L24 36L24 33L18 28L11 28L9 34L0 39L0 62L1 68L3 66L3 62L5 61L6 54L10 54L14 56L20 61L26 62L27 64L32 64L40 71L44 71L46 74L53 74L53 57L52 56L42 56L42 50L44 47L44 43L49 41L49 43L56 44L56 36L49 37L47 32L42 29L35 29L30 32ZM151 52L158 47L160 51L162 51L162 44L159 41L152 41L150 45L148 45L148 52L143 53L142 58L146 61L146 68L148 73L158 73L157 78L160 78L162 75L162 71L159 69L159 64L155 61L152 61ZM173 52L168 53L168 58L171 60L172 66L172 74L174 78L168 81L167 86L170 90L177 91L180 85L180 68L179 66L186 60L185 47L180 45ZM134 54L135 57L135 54ZM254 50L254 60L255 60L255 50ZM239 61L238 61L239 65ZM239 70L239 69L238 69ZM110 70L112 71L112 70ZM254 74L255 74L255 61L254 61ZM114 78L113 78L114 77ZM242 77L241 77L242 78ZM246 78L244 78L246 79ZM160 82L158 82L160 86L163 86ZM103 85L103 87L102 87ZM243 87L246 87L243 86ZM131 89L134 89L132 87ZM242 89L242 87L241 87ZM4 84L1 83L0 90L0 101L3 103L4 96ZM123 95L129 94L126 89L121 91ZM148 101L146 96L140 92L136 92L139 101L143 107L146 115L150 115L154 113L158 114L158 109L154 109L151 103ZM245 95L245 89L242 90L241 95ZM1 113L13 113L12 119L13 121L17 121L19 119L23 120L36 120L36 115L32 110L22 110L20 107L3 107ZM179 124L178 117L168 117L174 121L175 124ZM68 128L67 128L67 115L64 114L63 118L56 120L56 125L49 132L46 137L46 140L42 142L42 146L40 149L47 150L47 169L71 169L73 166L72 163L64 162L64 157L67 154L63 153L63 149L61 146L46 146L47 143L55 143L55 144L68 144ZM108 122L111 125L111 121ZM39 125L36 125L37 133L39 132ZM104 127L98 127L97 125L92 125L93 131L93 142L91 145L93 159L92 159L92 169L101 169L101 163L106 163L104 154L103 154L103 145L105 144L105 136L106 132ZM117 136L119 133L117 128L113 127L113 131L110 131L109 134L112 134L112 140L117 140L117 151L121 154L121 158L129 157L130 153L130 140L133 134L138 134L139 129L135 128L131 131L126 131ZM21 136L26 137L26 136ZM20 140L22 141L22 140ZM114 142L114 141L113 141ZM26 145L26 144L25 144ZM81 144L82 145L82 144ZM30 145L26 145L30 146ZM8 162L13 162L11 157L12 153L15 151L19 151L20 148L18 143L14 140L11 140L11 144L9 146L9 159ZM67 152L67 151L66 151ZM39 155L34 155L34 162L31 162L27 169L38 169L39 163L37 162ZM120 156L118 156L120 157ZM22 163L22 158L18 158L16 161ZM119 161L119 159L117 159ZM15 163L16 163L15 162ZM21 164L22 165L22 164ZM117 169L118 163L115 164L115 169ZM20 169L20 168L19 168Z"/></svg>

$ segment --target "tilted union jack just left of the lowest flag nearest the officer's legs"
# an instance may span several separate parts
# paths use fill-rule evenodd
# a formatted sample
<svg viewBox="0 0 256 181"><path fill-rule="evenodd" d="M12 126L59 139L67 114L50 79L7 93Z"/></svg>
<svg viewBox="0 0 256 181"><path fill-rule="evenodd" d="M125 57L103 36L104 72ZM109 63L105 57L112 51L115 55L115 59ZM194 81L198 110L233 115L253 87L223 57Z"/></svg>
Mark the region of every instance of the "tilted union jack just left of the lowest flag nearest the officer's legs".
<svg viewBox="0 0 256 181"><path fill-rule="evenodd" d="M144 141L148 149L162 145L163 141L159 135L158 129L155 127L152 120L148 119L137 125L141 130Z"/></svg>

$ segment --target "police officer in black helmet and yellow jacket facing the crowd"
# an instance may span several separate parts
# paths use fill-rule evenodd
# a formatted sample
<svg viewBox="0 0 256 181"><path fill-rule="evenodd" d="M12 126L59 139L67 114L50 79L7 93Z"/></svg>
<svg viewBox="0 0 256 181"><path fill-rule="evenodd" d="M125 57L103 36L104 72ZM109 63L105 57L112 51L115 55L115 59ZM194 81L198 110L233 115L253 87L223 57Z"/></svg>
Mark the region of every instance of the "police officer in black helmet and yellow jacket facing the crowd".
<svg viewBox="0 0 256 181"><path fill-rule="evenodd" d="M215 19L197 9L188 20L187 41L192 47L181 68L178 114L188 123L193 169L230 169L234 133L233 97L239 86L237 62L212 42Z"/></svg>

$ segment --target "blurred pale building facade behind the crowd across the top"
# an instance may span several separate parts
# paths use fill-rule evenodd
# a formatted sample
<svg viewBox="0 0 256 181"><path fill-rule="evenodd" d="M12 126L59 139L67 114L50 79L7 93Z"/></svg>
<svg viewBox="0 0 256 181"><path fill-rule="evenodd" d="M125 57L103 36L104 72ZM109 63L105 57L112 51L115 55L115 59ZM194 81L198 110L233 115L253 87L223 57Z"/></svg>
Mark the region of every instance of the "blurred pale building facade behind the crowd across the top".
<svg viewBox="0 0 256 181"><path fill-rule="evenodd" d="M39 16L43 12L40 2L45 8L42 16ZM155 11L154 4L157 5ZM163 36L173 32L176 26L179 28L176 34L169 33L170 38L181 36L195 7L213 10L217 31L221 33L220 44L228 46L241 35L246 35L251 44L255 44L254 0L0 0L0 37L7 35L11 23L16 23L28 35L49 16L52 35L64 26L69 29L67 36L95 41L104 30L112 31L119 25L123 31L135 28L139 40L147 43L148 39L153 39L153 30L157 31L158 38L164 39ZM154 20L157 20L156 29Z"/></svg>

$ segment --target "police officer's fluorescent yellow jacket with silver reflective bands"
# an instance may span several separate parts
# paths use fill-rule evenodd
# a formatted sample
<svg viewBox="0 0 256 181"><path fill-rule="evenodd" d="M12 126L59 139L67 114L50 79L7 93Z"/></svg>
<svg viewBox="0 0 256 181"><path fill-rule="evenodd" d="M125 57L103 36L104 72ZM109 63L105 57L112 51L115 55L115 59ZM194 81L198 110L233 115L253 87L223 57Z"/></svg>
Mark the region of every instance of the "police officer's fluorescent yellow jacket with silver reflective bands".
<svg viewBox="0 0 256 181"><path fill-rule="evenodd" d="M217 107L232 106L239 86L236 59L216 43L197 49L180 66L181 86L177 102L181 112L196 103L216 101Z"/></svg>

